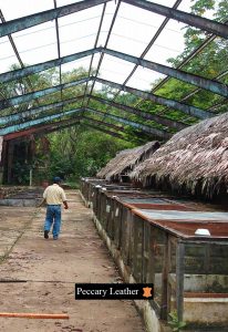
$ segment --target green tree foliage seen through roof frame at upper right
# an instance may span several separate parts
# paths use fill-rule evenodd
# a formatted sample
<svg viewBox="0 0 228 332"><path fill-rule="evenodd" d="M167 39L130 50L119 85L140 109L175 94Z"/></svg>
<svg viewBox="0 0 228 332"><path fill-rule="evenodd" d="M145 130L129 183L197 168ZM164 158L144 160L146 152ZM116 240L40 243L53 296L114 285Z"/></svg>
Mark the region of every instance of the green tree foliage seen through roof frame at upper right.
<svg viewBox="0 0 228 332"><path fill-rule="evenodd" d="M214 0L196 0L193 1L191 12L197 15L205 15L206 12L211 10L217 21L225 22L227 20L228 2L227 1L214 1ZM174 66L178 66L186 56L195 51L207 38L207 33L196 29L194 27L185 27L185 50L175 59L169 59L169 63ZM188 63L182 66L182 70L196 74L200 73L201 76L207 79L215 79L227 69L228 59L228 41L221 38L214 39L207 46L201 50L197 56L193 58ZM221 82L228 83L227 75L220 79ZM185 95L196 90L195 86L177 81L174 79L168 80L157 93L174 100L182 100ZM220 101L220 96L206 91L200 90L196 94L184 101L184 103L194 105L196 107L207 110L211 105ZM218 107L217 112L226 112L226 107ZM165 111L165 114L175 120L182 120L187 124L193 124L194 118L183 115L180 112L177 114L176 111ZM177 116L176 116L176 115Z"/></svg>

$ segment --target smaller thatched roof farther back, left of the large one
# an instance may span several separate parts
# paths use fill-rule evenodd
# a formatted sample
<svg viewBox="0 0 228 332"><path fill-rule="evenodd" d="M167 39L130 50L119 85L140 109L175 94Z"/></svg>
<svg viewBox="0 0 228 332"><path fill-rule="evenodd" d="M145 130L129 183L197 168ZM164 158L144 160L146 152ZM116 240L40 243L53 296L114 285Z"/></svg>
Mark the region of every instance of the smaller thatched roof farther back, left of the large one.
<svg viewBox="0 0 228 332"><path fill-rule="evenodd" d="M120 180L122 175L127 175L138 163L149 158L158 147L159 143L155 141L124 149L111 159L96 176L106 180Z"/></svg>

